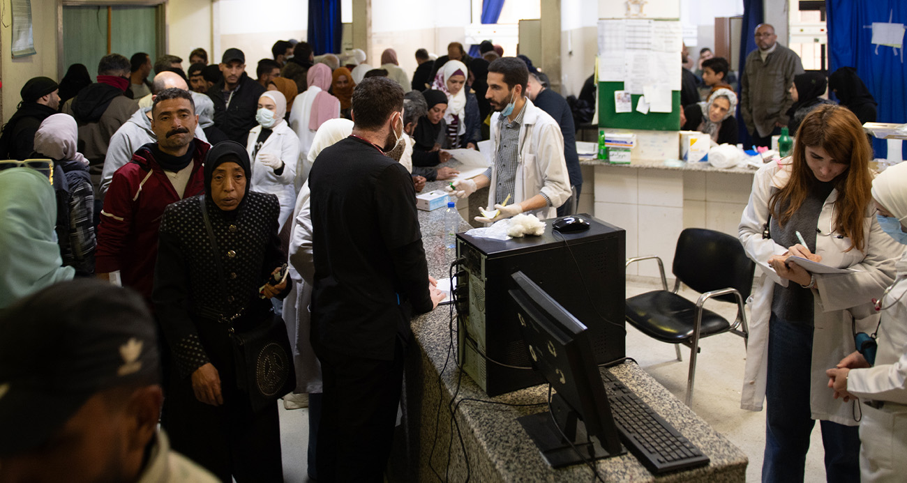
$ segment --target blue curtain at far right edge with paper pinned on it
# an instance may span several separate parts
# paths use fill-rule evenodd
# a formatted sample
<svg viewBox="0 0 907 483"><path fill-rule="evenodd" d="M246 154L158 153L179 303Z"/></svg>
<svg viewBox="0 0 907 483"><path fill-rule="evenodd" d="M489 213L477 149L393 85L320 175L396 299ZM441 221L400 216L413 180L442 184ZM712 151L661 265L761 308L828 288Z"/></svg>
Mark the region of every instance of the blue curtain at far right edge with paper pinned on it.
<svg viewBox="0 0 907 483"><path fill-rule="evenodd" d="M825 9L831 72L841 67L854 67L879 103L877 121L907 122L905 56L900 49L895 56L892 47L873 44L873 29L866 28L872 27L873 22L907 24L907 4L903 0L828 0ZM876 158L888 155L883 140L873 140L873 148Z"/></svg>

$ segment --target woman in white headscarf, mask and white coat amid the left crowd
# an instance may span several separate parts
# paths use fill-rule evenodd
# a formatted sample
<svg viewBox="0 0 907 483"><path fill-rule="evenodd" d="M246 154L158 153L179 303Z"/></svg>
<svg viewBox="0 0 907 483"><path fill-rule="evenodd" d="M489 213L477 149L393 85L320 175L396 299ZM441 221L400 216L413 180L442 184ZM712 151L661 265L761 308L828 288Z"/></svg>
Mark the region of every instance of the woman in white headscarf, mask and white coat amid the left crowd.
<svg viewBox="0 0 907 483"><path fill-rule="evenodd" d="M293 213L296 203L294 183L299 162L299 138L284 121L286 111L283 94L278 91L261 94L255 115L258 126L249 130L246 144L252 159L252 189L278 197L280 227Z"/></svg>

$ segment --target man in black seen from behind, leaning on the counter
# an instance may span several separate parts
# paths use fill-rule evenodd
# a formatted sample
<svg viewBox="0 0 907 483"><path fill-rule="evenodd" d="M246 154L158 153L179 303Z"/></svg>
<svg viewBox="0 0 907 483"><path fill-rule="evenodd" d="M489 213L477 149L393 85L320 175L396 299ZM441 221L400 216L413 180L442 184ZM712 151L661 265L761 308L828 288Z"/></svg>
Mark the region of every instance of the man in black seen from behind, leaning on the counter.
<svg viewBox="0 0 907 483"><path fill-rule="evenodd" d="M444 297L428 276L413 181L385 156L403 137L403 97L385 77L356 85L353 133L322 150L308 178L319 481L382 481L410 318Z"/></svg>

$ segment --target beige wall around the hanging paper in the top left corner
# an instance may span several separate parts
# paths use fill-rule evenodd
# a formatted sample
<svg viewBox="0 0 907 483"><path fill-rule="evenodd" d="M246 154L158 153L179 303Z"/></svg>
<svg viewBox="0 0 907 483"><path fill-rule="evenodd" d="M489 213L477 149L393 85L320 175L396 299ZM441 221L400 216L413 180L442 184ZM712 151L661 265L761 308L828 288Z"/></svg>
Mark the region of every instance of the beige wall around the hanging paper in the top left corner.
<svg viewBox="0 0 907 483"><path fill-rule="evenodd" d="M3 97L3 121L15 113L15 106L22 101L19 91L26 81L41 75L59 81L57 77L57 46L56 46L56 0L32 0L32 29L34 34L34 55L14 59L10 53L13 43L13 31L10 22L10 0L3 2L3 24L0 25L0 53L3 61L0 63L0 79L5 89L0 90ZM10 25L7 27L6 25Z"/></svg>

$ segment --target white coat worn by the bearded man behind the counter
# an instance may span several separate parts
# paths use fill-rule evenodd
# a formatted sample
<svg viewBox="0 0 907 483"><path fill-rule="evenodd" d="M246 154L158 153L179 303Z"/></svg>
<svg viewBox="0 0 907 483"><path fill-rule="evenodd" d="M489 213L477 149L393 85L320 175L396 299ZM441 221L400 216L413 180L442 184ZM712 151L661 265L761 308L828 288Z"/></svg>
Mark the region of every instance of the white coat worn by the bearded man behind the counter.
<svg viewBox="0 0 907 483"><path fill-rule="evenodd" d="M492 114L492 159L498 150L501 129L500 112ZM497 170L492 161L492 179L488 189L488 206L494 206L497 187ZM526 111L520 126L520 152L517 159L516 179L513 187L514 203L521 203L539 193L551 200L551 207L544 207L527 214L539 219L557 216L557 208L571 196L567 163L564 161L564 138L561 126L547 112L535 107L526 99Z"/></svg>

